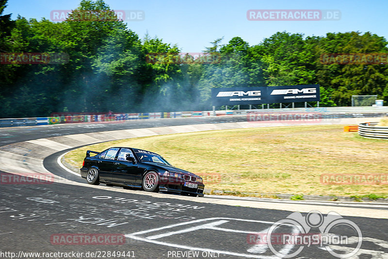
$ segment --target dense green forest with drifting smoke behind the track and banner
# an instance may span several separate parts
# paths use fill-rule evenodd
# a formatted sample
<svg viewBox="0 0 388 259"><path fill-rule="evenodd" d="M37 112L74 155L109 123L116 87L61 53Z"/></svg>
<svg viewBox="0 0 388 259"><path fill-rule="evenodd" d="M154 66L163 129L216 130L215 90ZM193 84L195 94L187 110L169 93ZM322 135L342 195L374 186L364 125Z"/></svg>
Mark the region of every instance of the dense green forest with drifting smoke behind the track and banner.
<svg viewBox="0 0 388 259"><path fill-rule="evenodd" d="M202 58L177 58L177 45L140 38L102 0L81 0L63 22L12 20L6 4L0 0L1 117L210 110L212 87L319 84L321 106L349 106L352 95L388 101L387 62L322 62L327 53L388 53L386 39L370 32L276 32L253 46L219 38ZM4 62L7 53L24 52L68 60Z"/></svg>

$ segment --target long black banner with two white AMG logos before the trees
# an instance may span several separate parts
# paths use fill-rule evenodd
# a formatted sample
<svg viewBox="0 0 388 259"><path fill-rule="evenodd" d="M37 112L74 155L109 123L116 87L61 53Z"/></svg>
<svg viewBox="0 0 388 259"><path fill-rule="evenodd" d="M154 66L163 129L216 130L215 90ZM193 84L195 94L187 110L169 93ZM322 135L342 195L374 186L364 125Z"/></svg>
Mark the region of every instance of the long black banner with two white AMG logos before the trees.
<svg viewBox="0 0 388 259"><path fill-rule="evenodd" d="M215 106L320 101L319 85L211 88Z"/></svg>

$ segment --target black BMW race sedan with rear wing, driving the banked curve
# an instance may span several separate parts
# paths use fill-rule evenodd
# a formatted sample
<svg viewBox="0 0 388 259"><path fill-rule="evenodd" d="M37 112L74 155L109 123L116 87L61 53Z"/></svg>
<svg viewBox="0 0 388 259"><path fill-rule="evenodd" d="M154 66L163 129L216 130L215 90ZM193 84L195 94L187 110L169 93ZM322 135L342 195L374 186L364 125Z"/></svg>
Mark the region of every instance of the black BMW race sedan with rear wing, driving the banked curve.
<svg viewBox="0 0 388 259"><path fill-rule="evenodd" d="M97 154L90 156L90 153ZM102 152L86 151L81 168L89 184L142 188L146 192L169 192L203 196L202 178L176 168L162 156L130 147L111 147Z"/></svg>

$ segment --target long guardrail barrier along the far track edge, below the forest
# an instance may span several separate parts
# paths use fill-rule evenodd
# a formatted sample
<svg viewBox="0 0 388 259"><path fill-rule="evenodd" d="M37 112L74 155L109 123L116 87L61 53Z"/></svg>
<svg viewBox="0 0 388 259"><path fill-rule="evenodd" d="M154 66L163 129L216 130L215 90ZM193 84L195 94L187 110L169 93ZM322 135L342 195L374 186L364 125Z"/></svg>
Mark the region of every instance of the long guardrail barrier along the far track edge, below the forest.
<svg viewBox="0 0 388 259"><path fill-rule="evenodd" d="M95 115L72 115L38 118L16 118L0 119L0 128L39 126L63 123L81 122L109 122L124 120L144 120L156 118L182 118L182 117L207 117L207 116L228 116L247 115L252 113L320 113L323 119L326 118L355 118L367 117L365 113L372 114L372 117L388 115L387 106L367 107L310 107L310 108L283 108L283 109L254 109L254 110L225 110L225 111L194 111L194 112L168 112L168 113L119 113L119 114L95 114Z"/></svg>

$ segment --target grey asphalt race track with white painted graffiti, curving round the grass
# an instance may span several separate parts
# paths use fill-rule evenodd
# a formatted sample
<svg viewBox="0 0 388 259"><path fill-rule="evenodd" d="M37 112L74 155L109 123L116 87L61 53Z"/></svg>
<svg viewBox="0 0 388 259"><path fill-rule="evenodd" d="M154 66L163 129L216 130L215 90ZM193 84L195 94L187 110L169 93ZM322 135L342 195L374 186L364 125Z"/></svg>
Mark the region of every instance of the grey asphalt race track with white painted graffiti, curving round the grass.
<svg viewBox="0 0 388 259"><path fill-rule="evenodd" d="M0 146L90 132L242 121L246 121L245 116L6 128L0 129ZM303 216L307 216L310 210L321 211L324 216L330 210L338 212L343 216L342 222L352 222L352 226L359 228L362 243L353 258L388 258L387 203L300 202L213 195L194 198L104 185L92 187L58 165L57 158L65 151L49 155L43 163L49 172L67 182L1 182L1 259L277 258L268 245L259 243L259 237L292 212L303 211ZM7 177L18 176L7 174ZM307 224L316 222L307 218ZM356 247L358 233L349 226L342 224L332 229L333 233L349 238L348 245L331 245L333 250L349 253ZM278 232L295 233L294 230L283 226ZM319 233L318 228L315 233ZM93 237L102 238L97 243L87 241ZM292 258L337 258L317 244L276 243L273 247L284 253L302 247ZM25 254L30 252L40 255Z"/></svg>

